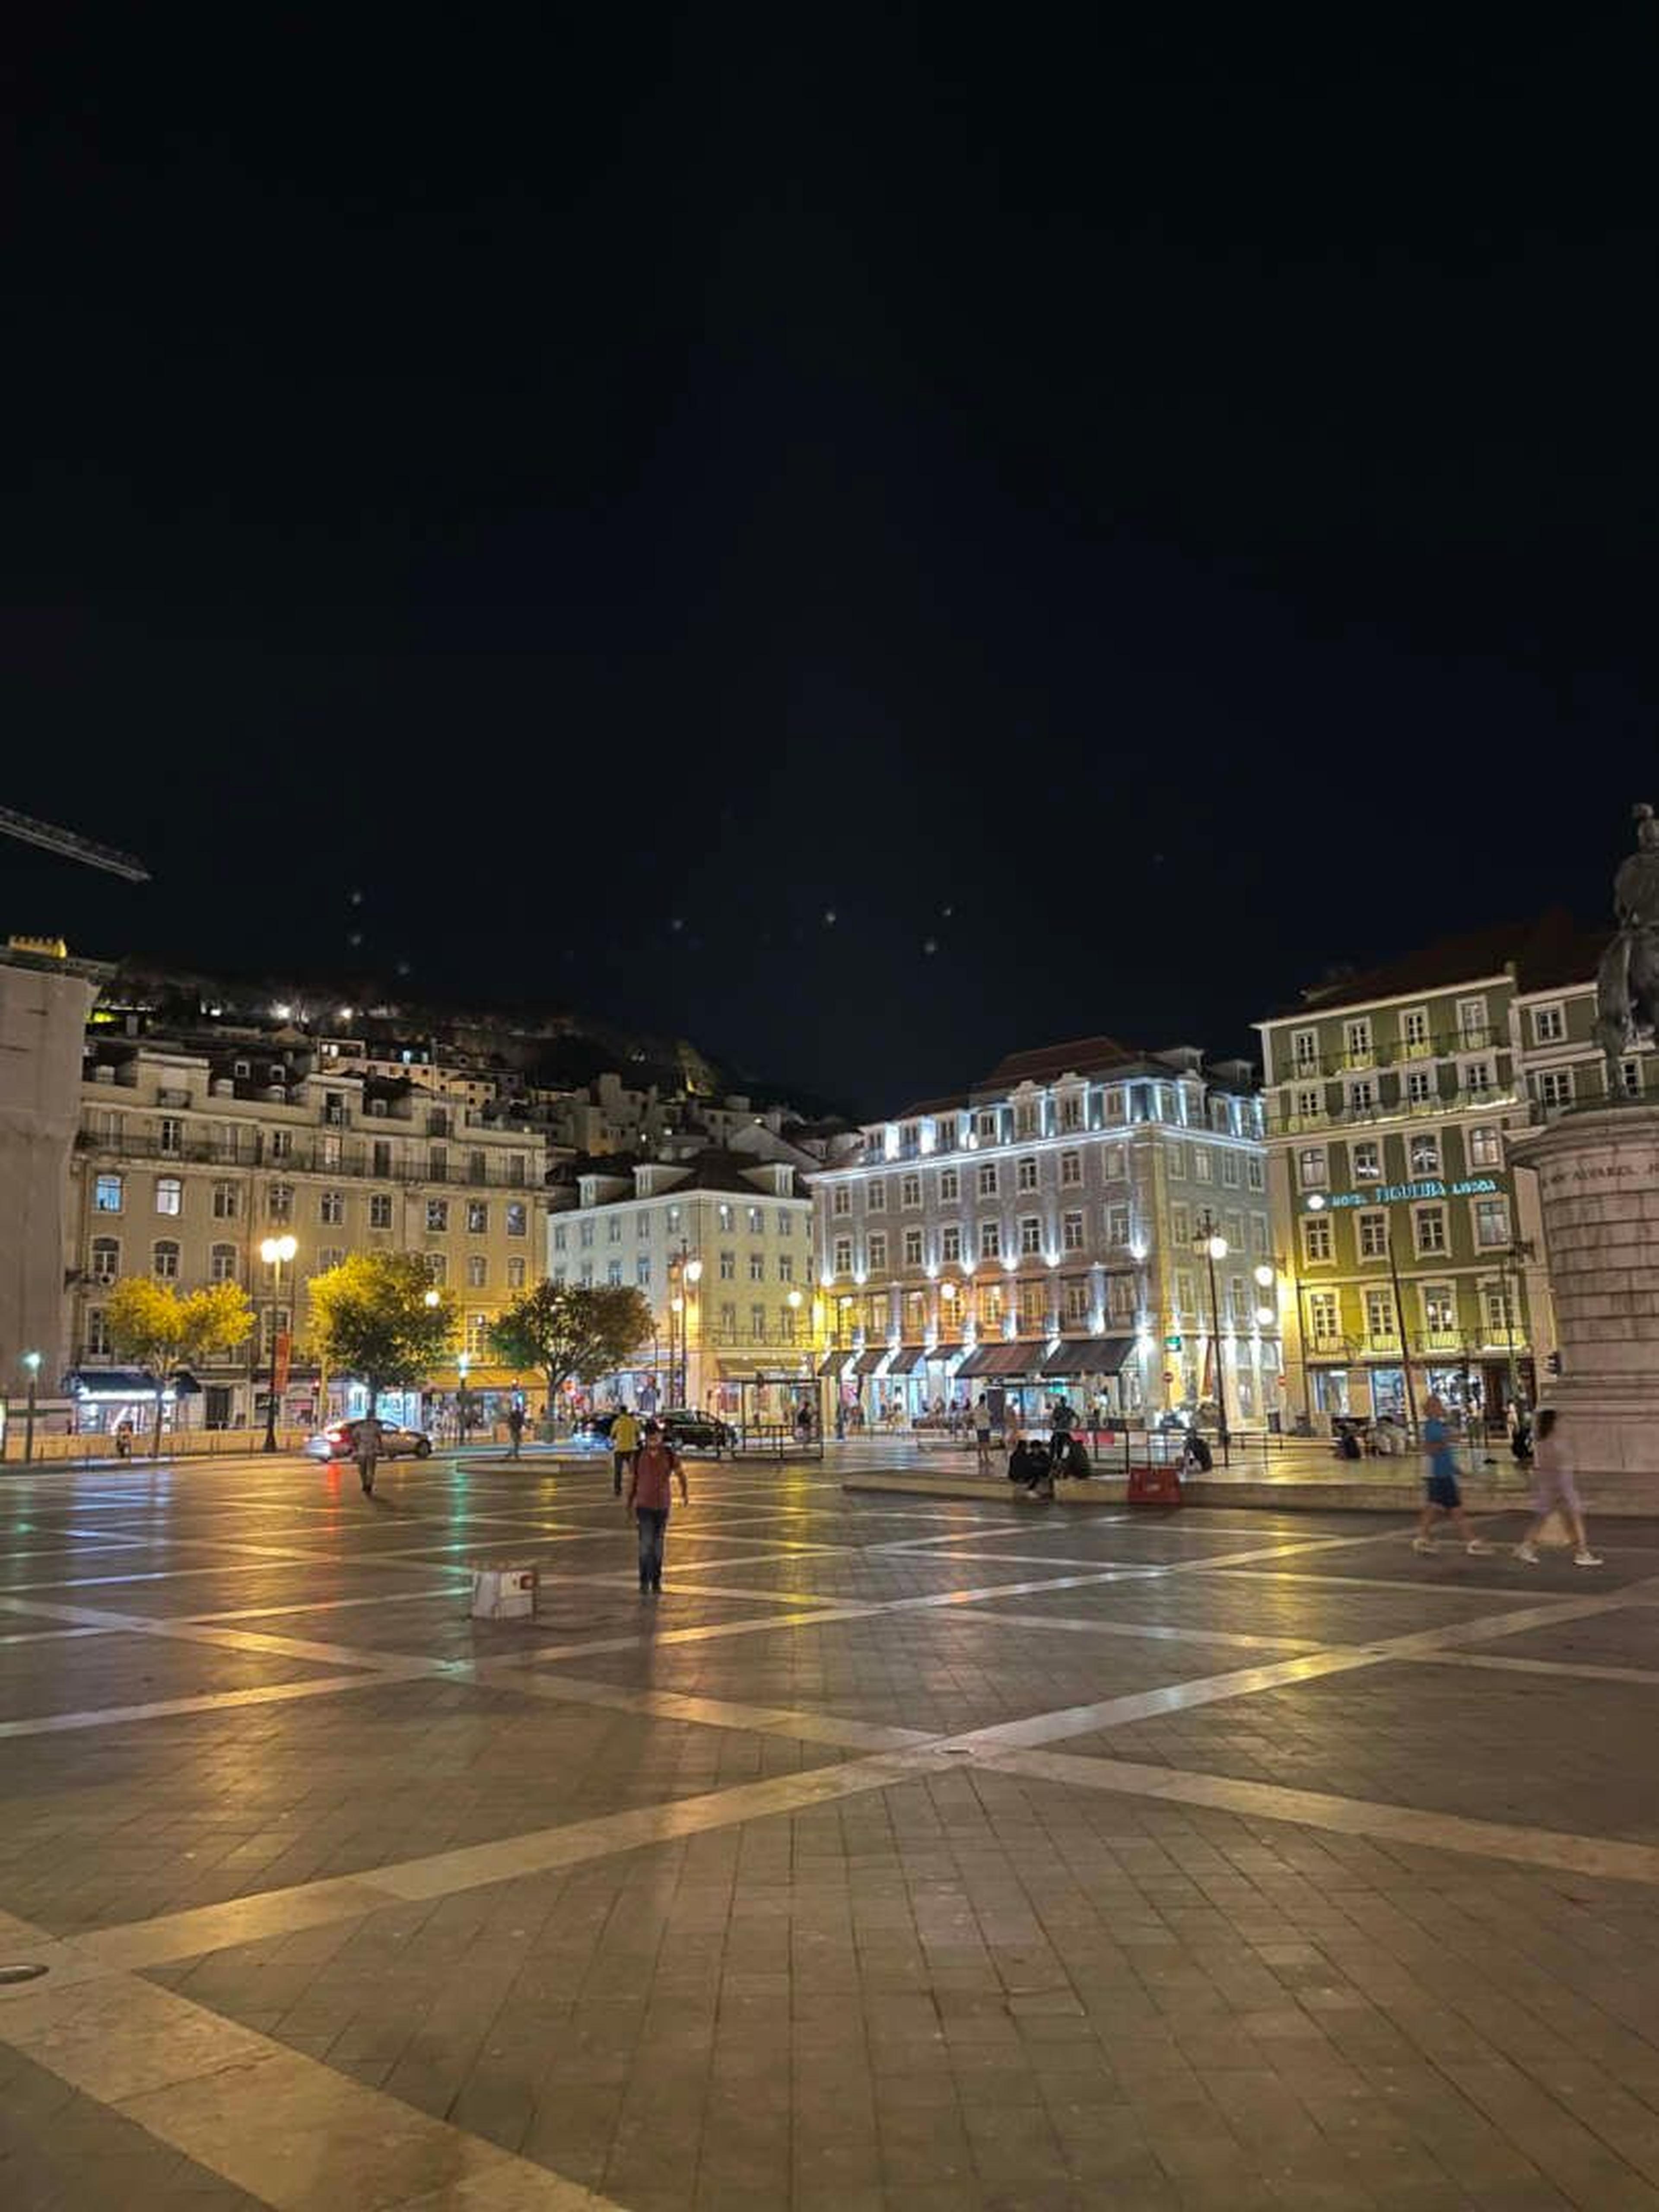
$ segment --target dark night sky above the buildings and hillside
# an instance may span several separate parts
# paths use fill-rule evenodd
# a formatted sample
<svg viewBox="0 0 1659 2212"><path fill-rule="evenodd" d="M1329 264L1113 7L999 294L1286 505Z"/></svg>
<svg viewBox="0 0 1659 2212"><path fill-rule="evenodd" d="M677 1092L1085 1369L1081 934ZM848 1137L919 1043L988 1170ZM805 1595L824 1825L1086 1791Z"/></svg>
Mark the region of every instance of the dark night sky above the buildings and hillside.
<svg viewBox="0 0 1659 2212"><path fill-rule="evenodd" d="M4 927L878 1110L1604 911L1646 9L35 13L0 796L157 880L7 845Z"/></svg>

